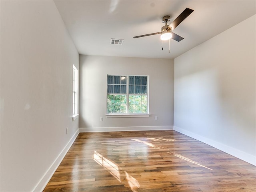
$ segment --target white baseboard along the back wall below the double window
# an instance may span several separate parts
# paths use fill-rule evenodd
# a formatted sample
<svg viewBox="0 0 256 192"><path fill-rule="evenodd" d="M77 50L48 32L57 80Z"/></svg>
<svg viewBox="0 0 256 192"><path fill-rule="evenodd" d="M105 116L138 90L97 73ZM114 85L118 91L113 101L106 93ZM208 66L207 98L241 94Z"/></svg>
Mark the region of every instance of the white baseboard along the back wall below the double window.
<svg viewBox="0 0 256 192"><path fill-rule="evenodd" d="M81 132L173 130L173 126L95 127L95 128L79 128L79 130L80 130L80 133Z"/></svg>

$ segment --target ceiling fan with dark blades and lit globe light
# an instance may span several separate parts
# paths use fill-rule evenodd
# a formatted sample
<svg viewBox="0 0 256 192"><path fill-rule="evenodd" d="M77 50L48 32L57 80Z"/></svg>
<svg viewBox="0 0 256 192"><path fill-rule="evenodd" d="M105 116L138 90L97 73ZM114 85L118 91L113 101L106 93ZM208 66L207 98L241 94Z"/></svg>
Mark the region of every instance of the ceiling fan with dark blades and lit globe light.
<svg viewBox="0 0 256 192"><path fill-rule="evenodd" d="M172 32L184 19L186 19L194 10L190 8L186 8L170 25L167 25L167 23L170 21L170 16L166 15L162 18L162 22L165 23L164 26L161 28L161 32L157 33L150 33L146 35L140 35L140 36L135 36L133 38L139 38L139 37L145 37L145 36L150 36L150 35L157 35L161 34L161 40L169 40L170 38L176 40L176 41L181 41L184 39L183 37L175 34Z"/></svg>

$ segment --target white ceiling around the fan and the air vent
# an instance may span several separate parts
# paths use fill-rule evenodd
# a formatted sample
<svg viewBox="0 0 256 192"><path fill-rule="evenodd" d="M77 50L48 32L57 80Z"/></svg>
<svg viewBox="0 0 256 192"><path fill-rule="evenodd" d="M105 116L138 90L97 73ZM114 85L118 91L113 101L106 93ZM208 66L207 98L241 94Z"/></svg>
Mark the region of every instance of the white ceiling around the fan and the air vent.
<svg viewBox="0 0 256 192"><path fill-rule="evenodd" d="M54 0L80 54L143 58L176 58L202 42L256 14L256 0ZM171 22L193 9L174 33L184 39L163 42L162 17ZM170 24L169 22L168 24ZM243 29L241 30L242 38ZM110 38L124 39L111 45ZM221 46L221 45L220 45Z"/></svg>

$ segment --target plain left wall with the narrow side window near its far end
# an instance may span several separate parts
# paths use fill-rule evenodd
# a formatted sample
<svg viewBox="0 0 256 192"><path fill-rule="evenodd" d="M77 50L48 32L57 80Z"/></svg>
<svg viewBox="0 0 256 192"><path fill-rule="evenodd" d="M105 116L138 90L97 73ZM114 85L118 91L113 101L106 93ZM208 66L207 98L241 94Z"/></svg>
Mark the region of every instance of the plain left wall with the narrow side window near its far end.
<svg viewBox="0 0 256 192"><path fill-rule="evenodd" d="M0 6L0 191L40 191L78 130L72 64L79 68L79 55L53 1Z"/></svg>

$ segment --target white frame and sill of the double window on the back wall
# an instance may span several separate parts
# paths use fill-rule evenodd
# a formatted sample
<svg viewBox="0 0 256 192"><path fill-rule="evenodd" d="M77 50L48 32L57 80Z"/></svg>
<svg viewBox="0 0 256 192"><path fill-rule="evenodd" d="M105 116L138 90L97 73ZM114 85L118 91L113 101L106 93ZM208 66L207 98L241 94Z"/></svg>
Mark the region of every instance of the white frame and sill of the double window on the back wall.
<svg viewBox="0 0 256 192"><path fill-rule="evenodd" d="M108 93L108 76L125 76L126 77L126 93ZM134 89L134 93L129 94L129 76L140 76L140 77L147 77L147 83L146 83L146 94L136 94L135 93L135 89ZM135 80L135 79L134 79ZM121 82L120 82L121 85ZM133 84L134 86L136 86L136 83L134 82ZM140 86L143 86L143 84L140 83ZM121 88L120 88L121 90ZM126 113L108 113L108 95L126 95ZM129 113L129 96L131 95L146 95L147 96L147 113ZM118 118L118 117L149 117L150 113L149 113L149 75L118 75L118 74L107 74L106 75L106 117L107 118Z"/></svg>

